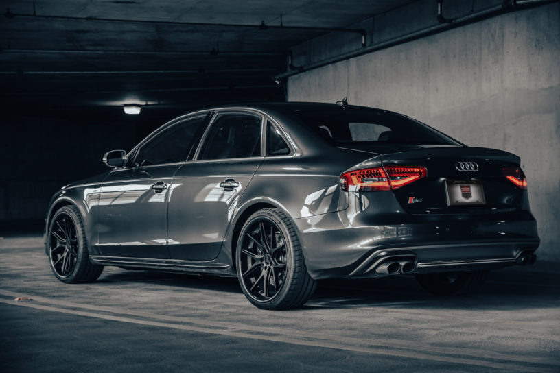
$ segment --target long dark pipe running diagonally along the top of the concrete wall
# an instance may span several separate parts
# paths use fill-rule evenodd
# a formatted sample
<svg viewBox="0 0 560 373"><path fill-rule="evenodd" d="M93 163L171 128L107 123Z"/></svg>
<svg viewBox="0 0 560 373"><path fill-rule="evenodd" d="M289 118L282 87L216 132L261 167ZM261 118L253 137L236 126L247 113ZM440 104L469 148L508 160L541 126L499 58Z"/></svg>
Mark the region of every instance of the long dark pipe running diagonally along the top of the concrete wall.
<svg viewBox="0 0 560 373"><path fill-rule="evenodd" d="M439 0L438 0L439 1ZM396 38L392 38L390 40L385 40L381 43L369 45L362 49L358 49L356 51L351 51L347 53L343 53L339 56L328 58L327 60L323 60L320 62L315 62L314 64L309 64L308 66L299 67L296 71L286 71L285 73L280 73L275 75L272 79L281 81L287 77L297 75L304 71L310 71L313 69L318 69L319 67L326 66L327 64L334 64L336 62L348 60L349 58L354 58L358 56L363 56L364 54L371 53L374 51L380 51L381 49L386 49L388 47L393 47L395 45L399 45L402 43L406 43L412 40L416 40L418 38L422 38L424 36L429 36L432 34L436 34L437 32L442 32L447 29L452 29L455 27L459 27L462 25L467 25L468 23L473 23L476 21L482 21L483 19L488 19L491 16L497 16L499 14L505 14L507 12L514 12L517 10L522 10L526 8L531 8L537 5L544 5L548 3L555 3L558 0L512 0L511 3L509 1L504 1L501 5L495 5L491 8L487 8L485 10L481 10L480 12L471 13L466 16L460 16L456 19L453 19L452 22L446 23L439 23L438 25L433 25L430 27L426 27L419 31L410 32L408 34L397 36ZM438 12L439 14L439 12ZM447 20L447 19L446 19Z"/></svg>

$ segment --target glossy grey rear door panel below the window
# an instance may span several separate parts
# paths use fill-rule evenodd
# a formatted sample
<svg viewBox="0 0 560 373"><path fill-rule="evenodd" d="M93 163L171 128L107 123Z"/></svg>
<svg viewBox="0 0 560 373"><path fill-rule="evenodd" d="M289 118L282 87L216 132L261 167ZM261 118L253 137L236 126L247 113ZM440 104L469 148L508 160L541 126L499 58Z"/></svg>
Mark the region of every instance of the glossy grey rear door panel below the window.
<svg viewBox="0 0 560 373"><path fill-rule="evenodd" d="M168 248L175 259L209 261L222 241L263 157L188 162L175 174L169 203ZM226 189L220 183L239 186Z"/></svg>

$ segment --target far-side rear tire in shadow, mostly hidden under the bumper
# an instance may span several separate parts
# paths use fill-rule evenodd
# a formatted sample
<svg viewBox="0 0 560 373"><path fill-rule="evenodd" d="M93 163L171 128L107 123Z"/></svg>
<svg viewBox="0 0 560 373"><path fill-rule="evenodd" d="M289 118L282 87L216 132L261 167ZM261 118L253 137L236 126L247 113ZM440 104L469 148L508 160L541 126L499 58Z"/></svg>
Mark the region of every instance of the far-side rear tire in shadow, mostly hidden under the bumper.
<svg viewBox="0 0 560 373"><path fill-rule="evenodd" d="M416 280L421 287L436 296L458 296L480 289L487 276L487 271L442 272L417 274Z"/></svg>

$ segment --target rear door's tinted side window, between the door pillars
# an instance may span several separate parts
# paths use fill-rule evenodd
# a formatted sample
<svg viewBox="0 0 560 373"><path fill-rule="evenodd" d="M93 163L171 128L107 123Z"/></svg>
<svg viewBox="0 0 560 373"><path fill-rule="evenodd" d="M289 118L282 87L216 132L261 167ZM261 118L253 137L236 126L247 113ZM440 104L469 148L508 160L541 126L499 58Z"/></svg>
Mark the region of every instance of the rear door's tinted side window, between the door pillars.
<svg viewBox="0 0 560 373"><path fill-rule="evenodd" d="M207 134L198 159L247 158L261 155L259 115L227 113L219 115Z"/></svg>

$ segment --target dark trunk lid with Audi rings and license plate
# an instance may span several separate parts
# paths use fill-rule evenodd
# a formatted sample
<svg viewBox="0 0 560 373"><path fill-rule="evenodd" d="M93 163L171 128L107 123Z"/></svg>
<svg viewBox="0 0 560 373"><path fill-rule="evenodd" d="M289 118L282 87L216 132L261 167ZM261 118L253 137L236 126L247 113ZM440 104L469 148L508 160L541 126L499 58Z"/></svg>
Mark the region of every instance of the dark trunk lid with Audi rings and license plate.
<svg viewBox="0 0 560 373"><path fill-rule="evenodd" d="M397 145L393 145L396 148ZM520 158L496 149L461 146L405 145L366 160L382 166L425 167L426 176L394 189L401 206L412 214L485 213L522 206L523 189L504 176L504 168L519 167ZM357 167L358 168L358 167Z"/></svg>

